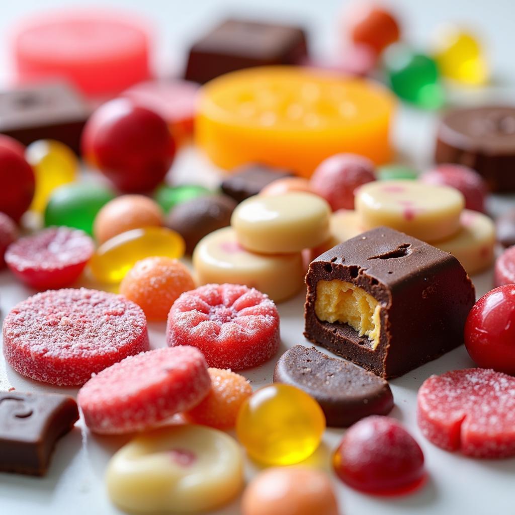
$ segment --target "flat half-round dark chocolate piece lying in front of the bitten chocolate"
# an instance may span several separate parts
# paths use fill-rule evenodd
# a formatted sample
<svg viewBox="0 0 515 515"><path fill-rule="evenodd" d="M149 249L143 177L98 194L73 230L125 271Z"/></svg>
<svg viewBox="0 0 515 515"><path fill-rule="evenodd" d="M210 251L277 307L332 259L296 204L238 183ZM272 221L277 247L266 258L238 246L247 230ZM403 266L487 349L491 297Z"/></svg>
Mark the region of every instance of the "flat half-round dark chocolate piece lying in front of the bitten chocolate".
<svg viewBox="0 0 515 515"><path fill-rule="evenodd" d="M393 395L384 379L314 347L288 349L276 364L273 380L309 393L331 427L349 427L369 415L388 415L393 408Z"/></svg>

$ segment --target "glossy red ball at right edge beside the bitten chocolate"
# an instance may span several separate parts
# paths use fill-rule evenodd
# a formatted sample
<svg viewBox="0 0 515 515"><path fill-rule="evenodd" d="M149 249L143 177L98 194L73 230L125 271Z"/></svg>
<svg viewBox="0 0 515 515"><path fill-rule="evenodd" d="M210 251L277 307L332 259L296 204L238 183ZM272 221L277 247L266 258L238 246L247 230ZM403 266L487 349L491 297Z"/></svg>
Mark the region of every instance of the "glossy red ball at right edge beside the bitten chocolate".
<svg viewBox="0 0 515 515"><path fill-rule="evenodd" d="M465 347L480 367L515 375L515 284L495 288L474 304Z"/></svg>

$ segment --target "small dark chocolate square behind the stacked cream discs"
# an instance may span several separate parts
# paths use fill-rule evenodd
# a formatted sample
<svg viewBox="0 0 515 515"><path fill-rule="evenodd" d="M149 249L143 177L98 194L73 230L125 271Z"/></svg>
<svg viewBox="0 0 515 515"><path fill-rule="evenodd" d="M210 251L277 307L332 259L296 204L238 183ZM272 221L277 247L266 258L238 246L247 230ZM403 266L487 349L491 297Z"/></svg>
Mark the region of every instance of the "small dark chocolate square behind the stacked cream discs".
<svg viewBox="0 0 515 515"><path fill-rule="evenodd" d="M233 170L222 182L221 189L236 202L243 202L252 195L257 195L270 182L292 176L289 171L253 163Z"/></svg>

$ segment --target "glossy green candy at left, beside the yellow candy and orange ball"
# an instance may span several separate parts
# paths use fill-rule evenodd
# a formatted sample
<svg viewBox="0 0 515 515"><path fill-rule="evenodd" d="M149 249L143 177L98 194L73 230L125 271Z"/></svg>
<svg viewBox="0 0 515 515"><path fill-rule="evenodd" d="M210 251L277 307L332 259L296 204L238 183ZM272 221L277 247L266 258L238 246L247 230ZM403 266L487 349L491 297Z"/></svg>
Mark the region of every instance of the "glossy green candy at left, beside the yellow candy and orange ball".
<svg viewBox="0 0 515 515"><path fill-rule="evenodd" d="M99 184L66 184L56 188L45 209L45 226L67 226L93 234L98 211L116 195Z"/></svg>

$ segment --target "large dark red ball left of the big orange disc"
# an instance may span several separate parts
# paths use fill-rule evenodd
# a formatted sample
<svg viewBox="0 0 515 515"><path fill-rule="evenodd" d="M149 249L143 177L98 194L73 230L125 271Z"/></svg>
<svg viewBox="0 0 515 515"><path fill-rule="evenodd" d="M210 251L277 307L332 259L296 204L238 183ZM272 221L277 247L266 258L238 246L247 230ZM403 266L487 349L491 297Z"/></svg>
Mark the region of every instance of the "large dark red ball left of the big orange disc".
<svg viewBox="0 0 515 515"><path fill-rule="evenodd" d="M92 114L81 144L84 158L127 193L153 190L175 156L164 119L125 98L111 100Z"/></svg>

